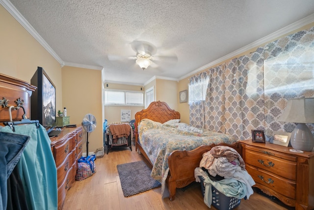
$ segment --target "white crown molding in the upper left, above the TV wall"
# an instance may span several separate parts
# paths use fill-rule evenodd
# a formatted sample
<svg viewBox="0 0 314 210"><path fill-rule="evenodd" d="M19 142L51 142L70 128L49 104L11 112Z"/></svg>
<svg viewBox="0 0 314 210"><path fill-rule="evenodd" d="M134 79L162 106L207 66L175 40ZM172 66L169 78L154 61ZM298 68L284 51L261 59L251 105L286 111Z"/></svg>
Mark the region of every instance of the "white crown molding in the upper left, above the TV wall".
<svg viewBox="0 0 314 210"><path fill-rule="evenodd" d="M63 60L52 50L47 42L37 33L37 31L28 23L23 15L8 0L0 0L1 5L41 44L52 57L63 65Z"/></svg>

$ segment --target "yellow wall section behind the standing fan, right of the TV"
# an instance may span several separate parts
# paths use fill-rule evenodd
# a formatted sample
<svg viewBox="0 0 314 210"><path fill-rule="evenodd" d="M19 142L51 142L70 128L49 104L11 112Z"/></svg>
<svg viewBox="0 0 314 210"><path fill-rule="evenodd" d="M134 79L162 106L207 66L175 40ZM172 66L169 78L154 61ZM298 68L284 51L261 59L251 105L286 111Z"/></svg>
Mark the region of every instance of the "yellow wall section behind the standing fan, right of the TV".
<svg viewBox="0 0 314 210"><path fill-rule="evenodd" d="M70 123L81 125L86 114L96 118L96 129L88 134L88 152L103 147L102 71L72 66L62 67L63 104ZM86 138L86 132L83 129ZM83 147L86 152L86 146Z"/></svg>

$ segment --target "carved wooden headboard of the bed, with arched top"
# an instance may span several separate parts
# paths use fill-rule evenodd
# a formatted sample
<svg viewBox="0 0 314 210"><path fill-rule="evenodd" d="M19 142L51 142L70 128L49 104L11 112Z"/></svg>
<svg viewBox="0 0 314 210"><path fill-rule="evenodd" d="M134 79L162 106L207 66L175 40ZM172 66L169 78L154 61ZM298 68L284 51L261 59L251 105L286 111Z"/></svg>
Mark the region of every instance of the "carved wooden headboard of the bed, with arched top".
<svg viewBox="0 0 314 210"><path fill-rule="evenodd" d="M137 125L143 119L154 120L164 123L168 120L180 119L180 113L170 109L166 102L154 101L147 109L135 113L135 132L137 133ZM135 133L135 135L136 135Z"/></svg>

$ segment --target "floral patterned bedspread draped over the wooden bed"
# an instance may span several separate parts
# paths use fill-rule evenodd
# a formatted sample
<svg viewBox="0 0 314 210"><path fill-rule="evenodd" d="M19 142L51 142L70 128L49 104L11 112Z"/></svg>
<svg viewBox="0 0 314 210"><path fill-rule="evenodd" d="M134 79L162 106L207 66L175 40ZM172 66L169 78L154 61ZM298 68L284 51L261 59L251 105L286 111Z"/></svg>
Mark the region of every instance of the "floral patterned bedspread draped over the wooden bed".
<svg viewBox="0 0 314 210"><path fill-rule="evenodd" d="M162 194L169 173L168 157L173 150L193 150L202 145L233 144L232 136L189 126L180 120L159 123L144 119L138 125L139 142L153 163L151 176L161 183Z"/></svg>

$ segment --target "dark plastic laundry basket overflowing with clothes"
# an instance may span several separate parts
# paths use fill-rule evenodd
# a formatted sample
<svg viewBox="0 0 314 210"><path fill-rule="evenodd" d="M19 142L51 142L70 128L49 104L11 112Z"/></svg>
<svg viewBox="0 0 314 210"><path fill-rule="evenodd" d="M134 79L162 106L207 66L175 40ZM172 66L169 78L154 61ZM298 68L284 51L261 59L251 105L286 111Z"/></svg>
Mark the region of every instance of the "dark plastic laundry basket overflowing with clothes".
<svg viewBox="0 0 314 210"><path fill-rule="evenodd" d="M205 186L204 186L204 177L199 176L201 180L201 190L204 197ZM214 206L217 210L233 210L240 205L241 200L235 197L228 197L223 193L219 192L214 186L211 185L212 191L212 201L211 205Z"/></svg>

